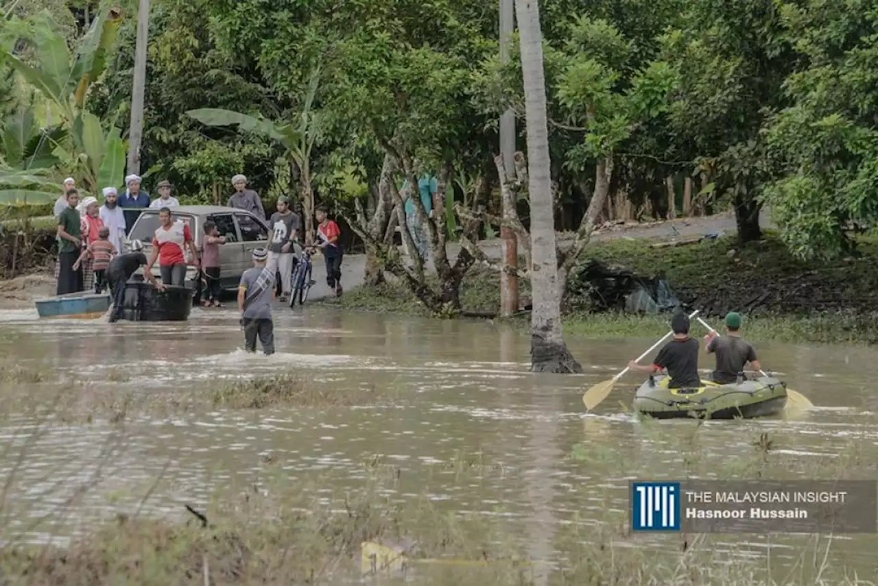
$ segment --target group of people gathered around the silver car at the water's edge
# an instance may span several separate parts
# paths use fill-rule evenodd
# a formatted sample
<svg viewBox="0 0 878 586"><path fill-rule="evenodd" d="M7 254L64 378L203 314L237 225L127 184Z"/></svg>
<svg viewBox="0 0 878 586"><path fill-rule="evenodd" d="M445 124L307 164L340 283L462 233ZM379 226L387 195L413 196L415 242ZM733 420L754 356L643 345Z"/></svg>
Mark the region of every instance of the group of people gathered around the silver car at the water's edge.
<svg viewBox="0 0 878 586"><path fill-rule="evenodd" d="M254 190L247 189L247 177L234 175L232 185L235 192L228 199L229 207L249 211L258 218L266 217L262 199ZM192 262L196 268L203 270L207 282L203 304L220 306L219 245L225 242L224 237L219 235L215 225L208 222L205 225L202 258L199 262L190 227L184 222L175 222L172 218L172 210L179 206L179 201L171 196L170 182L159 182L157 189L159 197L150 200L149 194L140 188L140 176L128 175L126 189L121 197L116 188L105 188L104 204L98 205L95 197L85 197L80 201L74 179L65 180L64 192L54 205L59 243L58 262L55 265L58 295L83 290L103 292L108 284L106 273L110 261L123 252L126 235L131 231L140 212L151 208L159 210L160 226L152 240L150 258L140 262L141 265L146 265L145 278L152 281L151 269L158 261L162 274L161 286L183 285L188 266L185 251L188 249ZM327 265L327 284L336 296L340 296L343 257L342 244L339 241L341 230L334 221L327 218L327 212L324 205L318 206L315 212L318 228L317 241L313 247L319 247L323 251ZM282 301L286 301L292 293L291 275L301 251L299 236L302 233L302 219L299 213L292 211L289 198L280 197L277 200L277 211L268 221L271 235L266 261L270 267L275 268L277 294Z"/></svg>

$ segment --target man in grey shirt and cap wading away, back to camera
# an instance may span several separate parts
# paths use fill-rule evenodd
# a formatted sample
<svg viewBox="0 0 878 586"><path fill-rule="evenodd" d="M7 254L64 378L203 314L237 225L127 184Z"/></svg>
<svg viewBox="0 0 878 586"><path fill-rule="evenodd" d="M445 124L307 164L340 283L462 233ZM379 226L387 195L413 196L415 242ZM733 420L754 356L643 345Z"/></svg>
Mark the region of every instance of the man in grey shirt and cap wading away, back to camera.
<svg viewBox="0 0 878 586"><path fill-rule="evenodd" d="M275 297L275 268L265 266L269 253L263 247L253 251L253 268L241 275L238 285L238 311L244 328L244 349L256 351L256 336L266 356L274 354L274 323L271 321L271 301Z"/></svg>

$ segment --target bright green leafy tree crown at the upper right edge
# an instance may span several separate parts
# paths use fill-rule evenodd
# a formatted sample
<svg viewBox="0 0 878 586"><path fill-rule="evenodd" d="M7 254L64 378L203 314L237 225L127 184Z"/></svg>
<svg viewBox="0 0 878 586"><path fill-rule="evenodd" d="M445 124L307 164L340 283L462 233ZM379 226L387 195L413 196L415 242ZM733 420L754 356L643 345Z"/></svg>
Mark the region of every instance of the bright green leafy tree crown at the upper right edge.
<svg viewBox="0 0 878 586"><path fill-rule="evenodd" d="M788 41L802 67L784 84L790 106L766 132L784 175L765 193L783 239L802 258L852 247L851 223L878 220L875 84L878 11L871 3L783 4Z"/></svg>

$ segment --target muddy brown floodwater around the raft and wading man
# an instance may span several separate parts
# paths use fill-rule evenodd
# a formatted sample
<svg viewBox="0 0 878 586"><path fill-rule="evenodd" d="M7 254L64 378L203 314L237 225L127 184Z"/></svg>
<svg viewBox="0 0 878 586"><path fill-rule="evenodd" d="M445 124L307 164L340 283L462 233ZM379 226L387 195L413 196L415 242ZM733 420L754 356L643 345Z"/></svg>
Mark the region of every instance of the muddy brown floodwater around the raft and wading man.
<svg viewBox="0 0 878 586"><path fill-rule="evenodd" d="M597 524L623 515L631 479L713 475L752 458L762 432L781 438L771 457L786 478L808 478L857 454L838 475L878 478L878 398L872 371L878 352L862 347L761 345L763 365L817 409L785 421L643 424L624 409L637 377L617 385L596 415L585 416L582 391L607 379L652 340L569 339L585 375L528 372L529 338L487 321L440 321L306 307L276 315L278 354L241 352L233 311L193 310L185 324L115 325L37 320L31 311L0 312L0 356L7 364L52 369L132 392L173 393L223 377L304 370L315 384L392 390L392 406L330 410L217 411L172 420L135 419L125 446L112 425L54 425L28 435L25 418L0 422L5 447L31 441L25 461L0 450L0 468L15 478L5 496L7 534L46 540L69 535L113 512L142 503L152 514L204 504L216 487L255 481L267 457L290 485L320 478L322 490L355 489L364 462L399 470L392 497L426 493L450 511L501 516L517 526L529 553L551 556L552 540L573 519ZM702 367L709 359L702 359ZM113 382L112 373L128 380ZM28 386L21 383L21 393ZM29 439L30 438L30 439ZM112 457L107 457L112 451ZM692 453L701 459L693 472ZM478 454L486 472L452 482L461 454ZM109 462L103 465L98 462ZM98 469L98 467L103 468ZM445 467L445 468L443 468ZM779 472L780 474L780 472ZM91 479L96 482L91 486ZM97 479L100 482L97 482ZM155 482L161 478L161 482ZM745 476L745 479L749 479ZM5 480L4 480L5 482ZM82 491L83 485L89 490ZM53 515L52 511L64 514ZM49 515L53 525L32 522ZM622 517L625 518L624 516ZM515 525L517 524L517 525ZM717 536L715 549L795 565L803 536ZM841 536L827 563L839 572L874 575L873 536ZM679 542L679 538L677 538ZM637 535L629 545L671 543Z"/></svg>

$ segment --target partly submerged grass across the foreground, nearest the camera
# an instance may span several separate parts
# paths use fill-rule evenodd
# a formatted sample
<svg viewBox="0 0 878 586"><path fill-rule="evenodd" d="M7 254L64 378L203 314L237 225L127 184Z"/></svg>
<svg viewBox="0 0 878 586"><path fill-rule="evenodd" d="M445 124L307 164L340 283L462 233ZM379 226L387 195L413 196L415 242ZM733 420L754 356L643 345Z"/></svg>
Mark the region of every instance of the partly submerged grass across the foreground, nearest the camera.
<svg viewBox="0 0 878 586"><path fill-rule="evenodd" d="M630 448L649 452L673 442L676 453L686 459L688 477L718 480L847 478L863 466L853 441L838 458L805 459L789 452L795 431L781 430L769 438L745 431L743 423L730 425L742 425L742 440L752 445L749 455L730 457L703 446L700 438L709 425L702 422L646 423L643 439ZM586 471L595 457L601 457L600 450L583 444L572 451L568 464ZM650 460L649 453L641 457ZM522 490L536 490L535 496L545 494L548 486L551 497L557 490L551 470L558 465L540 462L537 466L546 474L519 478L515 485L524 482ZM496 474L484 454L458 453L447 466L454 474L443 475L440 482L451 493ZM654 459L650 464L616 457L603 462L601 470L618 478L630 475L632 467L645 475L657 466ZM388 466L380 459L365 462L363 468L362 482L330 493L326 487L331 479L290 482L282 467L265 466L257 485L219 490L204 511L186 511L181 505L178 518L120 515L67 547L0 547L0 569L11 583L52 586L335 584L372 573L382 575L382 583L437 585L874 583L857 579L855 565L847 563L829 535L775 535L759 547L709 534L644 536L631 533L627 512L614 510L609 502L597 510L588 507L588 518L558 511L549 501L532 503L535 510L524 517L502 514L502 508L493 511L500 514L482 512L482 504L476 504L476 511L460 512L436 503L429 494L433 487L426 485L420 496L400 498L410 470L400 472L396 464ZM383 468L392 469L385 474ZM583 504L589 499L594 505L608 489L601 482L579 490ZM373 568L368 558L363 564L363 542L403 552L405 568L381 568L377 559ZM793 548L786 550L786 559L772 559L765 552L773 545ZM867 550L866 544L860 548Z"/></svg>

